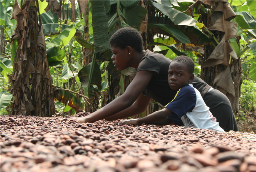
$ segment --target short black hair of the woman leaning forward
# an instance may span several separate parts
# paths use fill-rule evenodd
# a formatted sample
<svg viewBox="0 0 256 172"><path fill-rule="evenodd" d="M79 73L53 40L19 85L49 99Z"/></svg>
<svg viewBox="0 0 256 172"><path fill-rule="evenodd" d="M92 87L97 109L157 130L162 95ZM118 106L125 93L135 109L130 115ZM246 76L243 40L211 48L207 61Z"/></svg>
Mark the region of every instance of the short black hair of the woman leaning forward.
<svg viewBox="0 0 256 172"><path fill-rule="evenodd" d="M142 46L142 36L140 33L137 30L128 27L117 30L110 38L109 44L121 49L130 46L138 53L144 49Z"/></svg>

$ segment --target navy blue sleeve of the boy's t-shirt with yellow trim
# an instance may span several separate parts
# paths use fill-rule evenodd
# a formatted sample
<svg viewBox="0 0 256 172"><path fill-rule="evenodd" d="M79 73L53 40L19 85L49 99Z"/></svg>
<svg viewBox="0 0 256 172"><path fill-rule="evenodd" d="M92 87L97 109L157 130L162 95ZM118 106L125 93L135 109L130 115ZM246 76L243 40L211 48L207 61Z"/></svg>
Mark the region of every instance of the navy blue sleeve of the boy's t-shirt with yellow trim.
<svg viewBox="0 0 256 172"><path fill-rule="evenodd" d="M176 97L165 107L171 110L173 114L176 114L178 118L181 118L187 112L191 112L195 106L196 106L196 91L194 90L193 87L187 85L181 88L178 91ZM169 116L169 118L171 116Z"/></svg>

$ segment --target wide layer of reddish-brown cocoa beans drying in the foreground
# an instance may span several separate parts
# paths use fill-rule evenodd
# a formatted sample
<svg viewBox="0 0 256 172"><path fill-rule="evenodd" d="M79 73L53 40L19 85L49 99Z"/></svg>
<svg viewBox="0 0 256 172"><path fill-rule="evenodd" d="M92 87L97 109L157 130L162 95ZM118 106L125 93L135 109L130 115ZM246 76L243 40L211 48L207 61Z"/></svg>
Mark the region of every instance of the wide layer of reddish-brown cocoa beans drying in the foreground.
<svg viewBox="0 0 256 172"><path fill-rule="evenodd" d="M256 172L256 141L174 125L0 116L1 172Z"/></svg>

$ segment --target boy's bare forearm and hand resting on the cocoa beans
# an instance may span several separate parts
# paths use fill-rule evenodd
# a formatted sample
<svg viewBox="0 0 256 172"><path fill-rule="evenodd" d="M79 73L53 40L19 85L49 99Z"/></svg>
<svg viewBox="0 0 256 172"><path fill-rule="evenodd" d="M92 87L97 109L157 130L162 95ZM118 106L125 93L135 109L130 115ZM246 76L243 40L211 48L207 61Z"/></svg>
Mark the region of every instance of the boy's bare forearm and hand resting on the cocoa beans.
<svg viewBox="0 0 256 172"><path fill-rule="evenodd" d="M156 111L148 116L145 116L144 118L139 118L139 119L131 119L129 121L124 121L123 124L134 124L134 125L139 125L142 123L146 123L146 124L154 124L156 123L156 125L161 125L160 123L157 124L157 121L163 121L165 120L169 114L171 114L172 111L170 111L169 109L167 109L166 107L160 111ZM164 123L164 121L163 121ZM168 125L170 124L169 121L163 125Z"/></svg>

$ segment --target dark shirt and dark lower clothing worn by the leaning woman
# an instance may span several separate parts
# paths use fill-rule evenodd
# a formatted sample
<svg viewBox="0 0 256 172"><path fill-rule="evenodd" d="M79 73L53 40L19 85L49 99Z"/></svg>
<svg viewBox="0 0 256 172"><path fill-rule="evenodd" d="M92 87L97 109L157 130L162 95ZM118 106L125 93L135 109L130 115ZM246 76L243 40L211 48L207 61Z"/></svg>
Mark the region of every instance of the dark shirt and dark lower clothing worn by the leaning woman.
<svg viewBox="0 0 256 172"><path fill-rule="evenodd" d="M168 69L171 61L163 54L146 50L145 56L142 58L136 71L148 70L156 72L156 75L152 77L148 86L143 91L143 95L152 98L163 106L169 104L177 93L176 90L171 89L168 83ZM228 98L218 90L209 93L208 90L212 87L196 76L190 83L201 93L204 102L210 107L210 111L217 119L217 122L219 122L220 127L225 131L238 131Z"/></svg>

